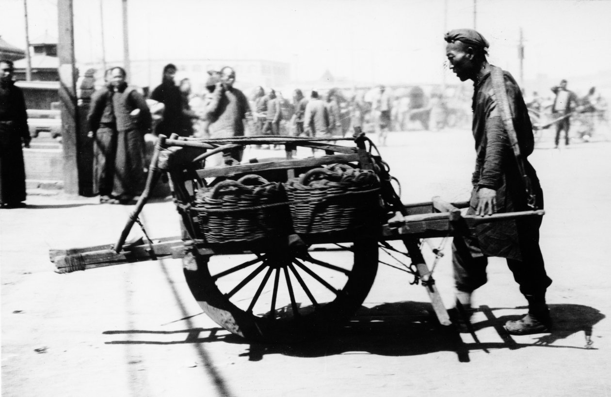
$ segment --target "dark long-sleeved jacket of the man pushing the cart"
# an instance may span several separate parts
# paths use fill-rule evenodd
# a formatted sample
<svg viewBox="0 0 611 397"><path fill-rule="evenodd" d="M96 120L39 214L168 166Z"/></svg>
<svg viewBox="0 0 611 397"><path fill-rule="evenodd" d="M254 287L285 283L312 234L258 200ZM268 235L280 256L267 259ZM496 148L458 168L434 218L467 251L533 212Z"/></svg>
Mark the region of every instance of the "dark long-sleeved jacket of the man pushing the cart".
<svg viewBox="0 0 611 397"><path fill-rule="evenodd" d="M503 71L507 97L513 114L514 129L518 136L518 143L525 172L529 175L532 190L536 195L536 208L543 208L543 192L535 169L527 161L533 148L532 125L528 110L522 98L518 83L507 71ZM473 136L475 138L475 172L472 183L474 186L470 213L477 208L477 191L480 188L494 189L497 192L496 212L506 213L525 211L527 195L522 178L518 172L518 165L511 148L511 143L503 125L499 100L492 89L490 73L474 84L473 95ZM518 230L524 230L516 221L491 222L477 227L477 238L480 241L482 252L491 257L504 257L521 260L519 248L520 239L529 238ZM538 228L538 225L533 225Z"/></svg>

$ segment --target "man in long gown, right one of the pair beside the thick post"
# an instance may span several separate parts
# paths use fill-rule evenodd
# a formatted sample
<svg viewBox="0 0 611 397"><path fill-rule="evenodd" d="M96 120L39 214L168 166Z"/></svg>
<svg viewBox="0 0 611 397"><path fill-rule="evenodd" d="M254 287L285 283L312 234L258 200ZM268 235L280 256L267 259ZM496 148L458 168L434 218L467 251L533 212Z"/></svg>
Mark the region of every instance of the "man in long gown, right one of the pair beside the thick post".
<svg viewBox="0 0 611 397"><path fill-rule="evenodd" d="M119 204L129 204L144 188L144 134L150 131L152 119L144 97L125 81L123 68L112 68L110 78L117 122L112 195Z"/></svg>

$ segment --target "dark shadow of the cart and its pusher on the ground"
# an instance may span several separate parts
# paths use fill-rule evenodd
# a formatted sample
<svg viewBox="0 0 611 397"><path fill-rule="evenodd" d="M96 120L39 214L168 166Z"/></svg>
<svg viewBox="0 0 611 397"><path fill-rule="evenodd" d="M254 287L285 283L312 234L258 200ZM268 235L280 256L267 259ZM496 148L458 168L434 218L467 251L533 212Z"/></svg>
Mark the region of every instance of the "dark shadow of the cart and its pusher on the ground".
<svg viewBox="0 0 611 397"><path fill-rule="evenodd" d="M520 316L500 316L499 318L494 316L496 310L505 309L508 308L481 306L479 310L485 314L486 320L473 324L475 332L486 327L494 327L501 340L494 343L480 342L477 333L475 337L472 337L474 342L465 343L463 337L452 326L444 327L436 321L436 318L431 315L433 313L431 304L425 302L397 302L373 308L361 307L346 326L334 333L317 340L296 344L251 343L235 335L227 335L227 332L221 328L175 331L125 330L106 331L104 334L130 334L130 340L108 341L107 344L178 344L216 341L249 344L248 351L241 354L241 357L248 357L251 361L262 360L266 354L323 357L346 352L365 352L376 355L403 356L450 351L456 353L460 362L469 362L469 351L471 350L519 349L530 346L592 349L594 348L591 344L592 328L605 318L600 311L584 305L550 305L555 324L552 332L540 334L541 337L537 338L534 343L517 343L503 329L503 324L508 320L518 319ZM557 343L579 332L584 333L583 346L563 346ZM176 341L155 341L155 338L152 338L153 340L134 340L136 334L181 333L186 334L185 339ZM530 337L532 338L533 335Z"/></svg>

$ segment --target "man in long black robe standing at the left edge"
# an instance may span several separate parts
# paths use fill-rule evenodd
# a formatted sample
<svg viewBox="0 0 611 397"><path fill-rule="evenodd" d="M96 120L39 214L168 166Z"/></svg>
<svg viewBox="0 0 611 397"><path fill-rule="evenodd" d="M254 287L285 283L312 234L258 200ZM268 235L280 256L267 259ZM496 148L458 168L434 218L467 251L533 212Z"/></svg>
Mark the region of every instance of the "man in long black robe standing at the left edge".
<svg viewBox="0 0 611 397"><path fill-rule="evenodd" d="M0 60L0 207L26 206L23 149L32 139L27 128L26 101L15 87L13 62Z"/></svg>

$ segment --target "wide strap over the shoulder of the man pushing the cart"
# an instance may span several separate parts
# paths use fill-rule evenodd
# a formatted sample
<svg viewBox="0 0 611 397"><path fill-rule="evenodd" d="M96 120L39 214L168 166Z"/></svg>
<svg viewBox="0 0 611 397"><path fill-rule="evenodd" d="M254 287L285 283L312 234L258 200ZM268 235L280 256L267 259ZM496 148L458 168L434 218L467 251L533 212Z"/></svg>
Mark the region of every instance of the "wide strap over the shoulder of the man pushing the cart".
<svg viewBox="0 0 611 397"><path fill-rule="evenodd" d="M513 155L518 163L518 170L524 181L524 188L526 189L527 204L530 208L535 208L535 194L532 191L532 184L530 178L526 175L524 167L524 159L520 152L520 145L518 142L518 134L513 128L513 114L511 114L511 107L509 106L509 99L507 98L507 90L505 90L505 78L503 77L503 70L499 67L491 65L491 76L492 78L492 90L497 97L498 104L500 107L500 114L503 118L503 125L507 131L507 136L511 142L511 148L513 148Z"/></svg>

